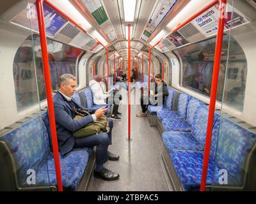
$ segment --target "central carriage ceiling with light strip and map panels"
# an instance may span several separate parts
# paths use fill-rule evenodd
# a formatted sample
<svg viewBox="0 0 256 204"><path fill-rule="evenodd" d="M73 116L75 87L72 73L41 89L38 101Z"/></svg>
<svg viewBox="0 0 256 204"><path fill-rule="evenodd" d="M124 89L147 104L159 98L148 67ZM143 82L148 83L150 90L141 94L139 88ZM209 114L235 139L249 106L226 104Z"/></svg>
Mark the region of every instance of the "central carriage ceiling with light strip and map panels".
<svg viewBox="0 0 256 204"><path fill-rule="evenodd" d="M127 25L132 27L132 59L147 51L150 42L191 0L68 0L108 42L127 59ZM141 51L141 52L140 52Z"/></svg>

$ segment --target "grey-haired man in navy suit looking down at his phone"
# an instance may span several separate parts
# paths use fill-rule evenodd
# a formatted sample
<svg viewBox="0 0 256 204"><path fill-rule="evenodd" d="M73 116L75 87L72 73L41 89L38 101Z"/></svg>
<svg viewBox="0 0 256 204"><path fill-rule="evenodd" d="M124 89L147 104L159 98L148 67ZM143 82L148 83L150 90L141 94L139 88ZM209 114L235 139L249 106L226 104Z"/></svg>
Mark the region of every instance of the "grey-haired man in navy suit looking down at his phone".
<svg viewBox="0 0 256 204"><path fill-rule="evenodd" d="M84 128L99 117L102 117L107 111L107 108L100 108L93 115L88 115L79 120L73 120L76 115L74 106L81 108L81 106L72 100L72 95L76 92L76 87L76 77L71 74L63 74L59 81L59 91L53 98L58 146L61 155L67 156L74 148L97 146L95 177L104 180L116 180L119 178L118 173L114 173L103 167L103 164L108 159L111 161L119 159L119 156L108 152L108 145L111 145L113 121L109 119L109 133L99 133L84 138L74 138L73 136L75 131Z"/></svg>

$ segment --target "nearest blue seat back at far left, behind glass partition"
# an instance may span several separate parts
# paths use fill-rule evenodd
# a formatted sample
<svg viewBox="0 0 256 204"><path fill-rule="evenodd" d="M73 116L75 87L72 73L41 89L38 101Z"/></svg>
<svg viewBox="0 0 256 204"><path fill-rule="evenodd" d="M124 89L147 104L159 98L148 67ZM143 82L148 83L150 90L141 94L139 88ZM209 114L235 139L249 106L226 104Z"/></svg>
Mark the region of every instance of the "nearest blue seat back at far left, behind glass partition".
<svg viewBox="0 0 256 204"><path fill-rule="evenodd" d="M37 116L1 137L15 157L20 187L28 186L27 171L37 172L42 167L47 168L47 157L50 151L49 145L44 140L42 126L42 120ZM44 178L47 181L47 175L44 175ZM49 182L42 183L36 177L36 185L47 186Z"/></svg>

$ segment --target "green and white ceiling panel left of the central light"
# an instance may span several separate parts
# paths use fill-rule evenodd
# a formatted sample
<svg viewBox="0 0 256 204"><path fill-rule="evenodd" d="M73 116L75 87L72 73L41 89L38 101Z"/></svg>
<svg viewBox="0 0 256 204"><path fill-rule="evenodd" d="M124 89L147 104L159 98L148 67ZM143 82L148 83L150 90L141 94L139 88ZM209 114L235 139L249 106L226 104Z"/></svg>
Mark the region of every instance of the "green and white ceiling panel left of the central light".
<svg viewBox="0 0 256 204"><path fill-rule="evenodd" d="M108 20L106 11L104 10L100 0L81 0L84 6L92 13L93 17L99 25L104 24Z"/></svg>

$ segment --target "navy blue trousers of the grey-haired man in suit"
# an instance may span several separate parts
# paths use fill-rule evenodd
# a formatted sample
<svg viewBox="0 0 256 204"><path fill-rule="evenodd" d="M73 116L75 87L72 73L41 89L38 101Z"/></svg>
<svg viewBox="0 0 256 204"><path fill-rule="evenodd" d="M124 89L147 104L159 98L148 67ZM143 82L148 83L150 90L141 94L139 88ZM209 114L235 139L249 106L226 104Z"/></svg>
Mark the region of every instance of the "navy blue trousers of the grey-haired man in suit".
<svg viewBox="0 0 256 204"><path fill-rule="evenodd" d="M112 144L113 120L108 119L109 133L99 133L98 135L76 138L74 148L97 146L96 164L104 164L108 161L108 145Z"/></svg>

